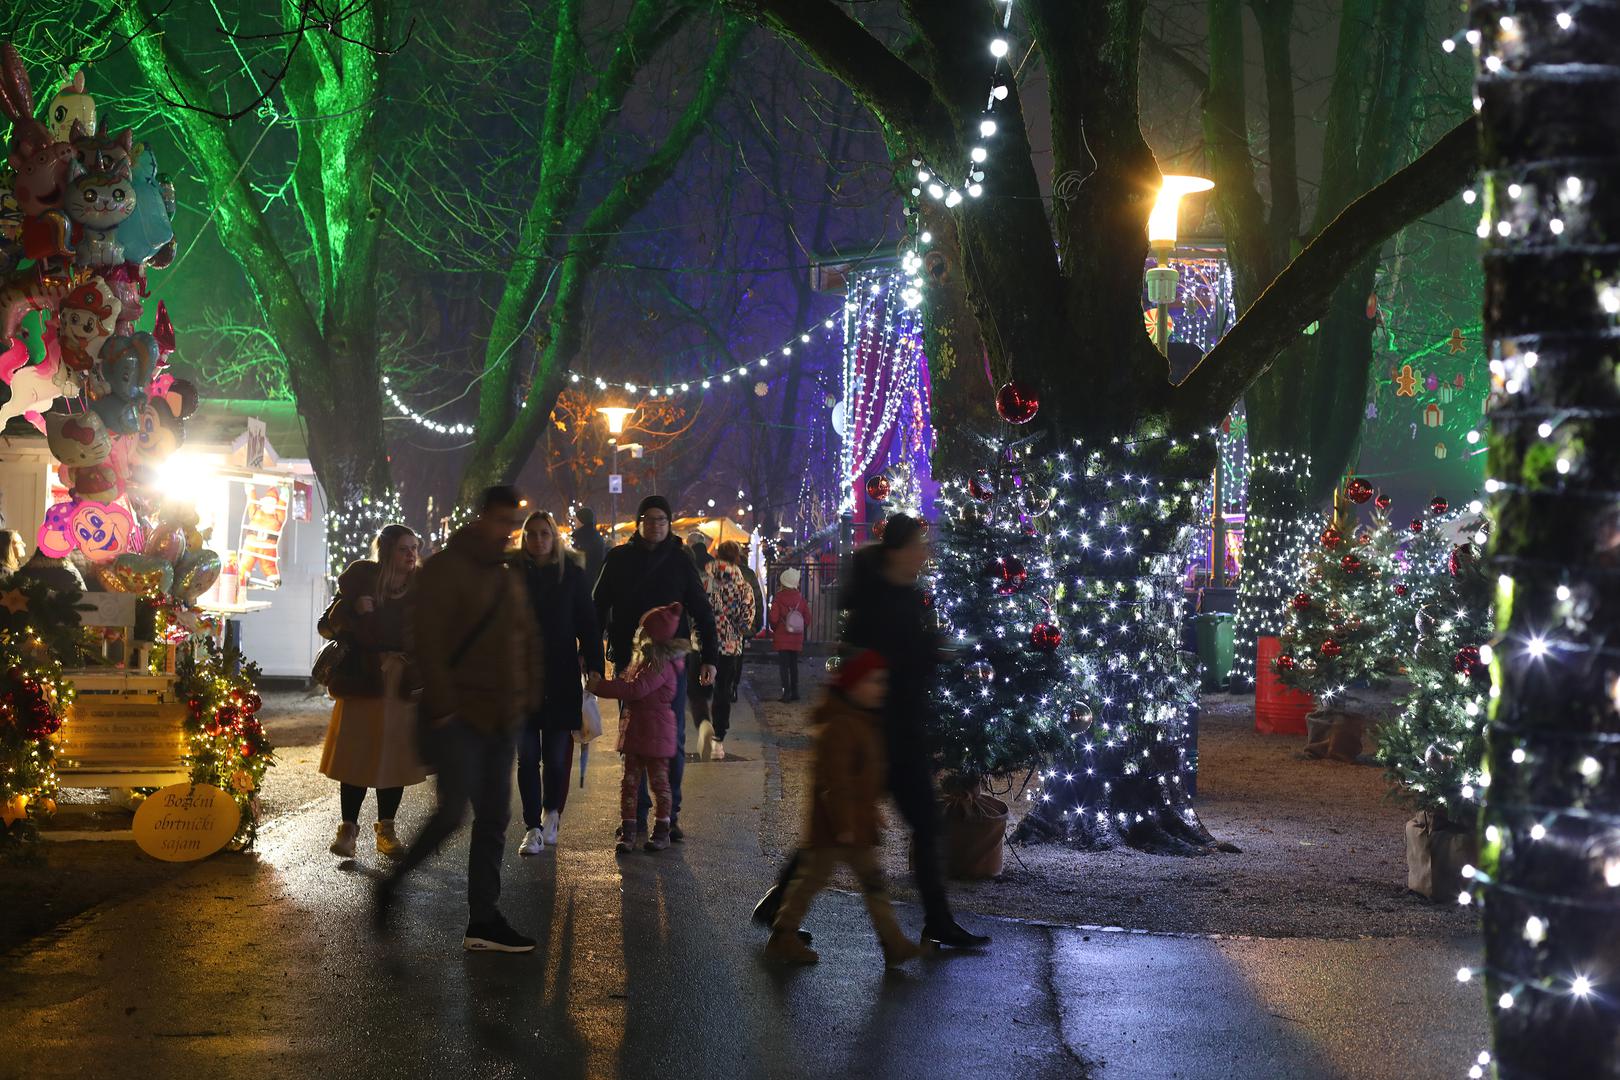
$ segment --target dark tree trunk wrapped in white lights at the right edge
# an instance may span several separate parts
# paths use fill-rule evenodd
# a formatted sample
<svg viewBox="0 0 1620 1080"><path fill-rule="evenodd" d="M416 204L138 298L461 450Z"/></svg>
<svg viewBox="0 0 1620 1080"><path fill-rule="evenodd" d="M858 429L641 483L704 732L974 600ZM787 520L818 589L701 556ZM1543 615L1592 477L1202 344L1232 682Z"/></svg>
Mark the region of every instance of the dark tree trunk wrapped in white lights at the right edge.
<svg viewBox="0 0 1620 1080"><path fill-rule="evenodd" d="M1469 5L1498 390L1486 491L1497 1077L1620 1077L1620 5ZM1471 973L1464 970L1466 980ZM1555 1052L1549 1052L1555 1048ZM1484 1065L1476 1067L1482 1074Z"/></svg>

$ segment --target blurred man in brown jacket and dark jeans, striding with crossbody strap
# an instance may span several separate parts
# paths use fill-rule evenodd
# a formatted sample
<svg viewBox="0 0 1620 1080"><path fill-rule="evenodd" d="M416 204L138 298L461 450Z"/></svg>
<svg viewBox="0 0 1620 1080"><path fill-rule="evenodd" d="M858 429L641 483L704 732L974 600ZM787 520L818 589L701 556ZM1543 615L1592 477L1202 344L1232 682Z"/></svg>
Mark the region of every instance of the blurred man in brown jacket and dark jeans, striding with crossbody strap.
<svg viewBox="0 0 1620 1080"><path fill-rule="evenodd" d="M517 729L539 708L544 670L523 575L507 559L507 541L523 526L522 505L512 487L491 487L478 517L416 572L410 601L410 651L423 683L416 724L423 756L439 774L437 805L376 891L376 921L386 929L400 881L462 827L471 803L462 938L471 952L535 949L496 908Z"/></svg>

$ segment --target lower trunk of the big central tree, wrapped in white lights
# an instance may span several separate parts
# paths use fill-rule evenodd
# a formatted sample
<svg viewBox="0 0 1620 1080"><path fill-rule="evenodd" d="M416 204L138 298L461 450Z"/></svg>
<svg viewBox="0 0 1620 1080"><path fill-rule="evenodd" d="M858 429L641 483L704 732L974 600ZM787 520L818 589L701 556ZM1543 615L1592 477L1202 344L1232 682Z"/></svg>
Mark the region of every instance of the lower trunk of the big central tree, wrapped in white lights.
<svg viewBox="0 0 1620 1080"><path fill-rule="evenodd" d="M1068 677L1050 695L1059 746L1038 771L1024 839L1202 853L1187 721L1197 664L1178 649L1181 565L1212 440L1145 436L1053 455L1047 525Z"/></svg>

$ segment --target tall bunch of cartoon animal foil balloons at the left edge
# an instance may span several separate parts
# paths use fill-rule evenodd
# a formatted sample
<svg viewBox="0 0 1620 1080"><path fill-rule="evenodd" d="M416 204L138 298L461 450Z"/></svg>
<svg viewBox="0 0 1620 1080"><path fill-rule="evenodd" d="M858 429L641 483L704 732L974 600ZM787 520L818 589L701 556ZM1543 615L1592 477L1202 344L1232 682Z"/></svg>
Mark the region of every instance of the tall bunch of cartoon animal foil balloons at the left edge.
<svg viewBox="0 0 1620 1080"><path fill-rule="evenodd" d="M194 510L162 502L159 478L198 393L165 371L175 330L162 303L152 330L136 330L147 269L175 256L173 188L151 146L104 130L83 71L40 121L21 57L0 44L0 112L11 120L0 170L0 382L11 393L0 427L24 416L44 431L68 487L39 549L87 563L107 589L193 601L219 576L219 555Z"/></svg>

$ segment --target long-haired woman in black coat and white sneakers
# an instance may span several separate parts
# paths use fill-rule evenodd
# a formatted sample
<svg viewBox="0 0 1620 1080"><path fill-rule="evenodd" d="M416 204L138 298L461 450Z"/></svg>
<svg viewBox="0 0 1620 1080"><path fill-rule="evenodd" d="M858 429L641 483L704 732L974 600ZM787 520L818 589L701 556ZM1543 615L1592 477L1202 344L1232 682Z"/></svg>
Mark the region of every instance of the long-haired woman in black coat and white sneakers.
<svg viewBox="0 0 1620 1080"><path fill-rule="evenodd" d="M523 523L523 575L535 622L546 646L544 698L518 740L517 790L523 800L523 844L518 855L557 845L562 808L573 772L573 732L580 730L583 672L606 674L603 635L591 604L585 560L572 551L557 523L539 510Z"/></svg>

